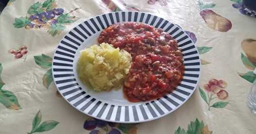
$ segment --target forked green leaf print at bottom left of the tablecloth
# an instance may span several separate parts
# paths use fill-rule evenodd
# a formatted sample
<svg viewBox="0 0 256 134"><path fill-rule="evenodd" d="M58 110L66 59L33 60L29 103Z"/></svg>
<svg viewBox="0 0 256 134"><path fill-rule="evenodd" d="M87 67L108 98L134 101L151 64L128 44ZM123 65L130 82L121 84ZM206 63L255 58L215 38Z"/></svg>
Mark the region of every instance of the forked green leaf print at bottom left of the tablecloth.
<svg viewBox="0 0 256 134"><path fill-rule="evenodd" d="M41 124L40 122L41 122L41 112L38 111L33 119L32 130L31 132L28 132L28 134L31 134L34 132L49 131L59 124L59 122L54 120L44 121Z"/></svg>

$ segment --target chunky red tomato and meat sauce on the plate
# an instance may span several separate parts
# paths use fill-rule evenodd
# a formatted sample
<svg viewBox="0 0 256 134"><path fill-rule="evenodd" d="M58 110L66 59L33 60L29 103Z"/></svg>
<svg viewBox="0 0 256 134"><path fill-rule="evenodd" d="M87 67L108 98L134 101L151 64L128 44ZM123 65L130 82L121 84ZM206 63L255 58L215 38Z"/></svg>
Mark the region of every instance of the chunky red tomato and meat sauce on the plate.
<svg viewBox="0 0 256 134"><path fill-rule="evenodd" d="M177 41L162 29L138 22L122 22L103 30L98 42L131 53L132 65L123 91L131 102L147 101L173 91L183 73Z"/></svg>

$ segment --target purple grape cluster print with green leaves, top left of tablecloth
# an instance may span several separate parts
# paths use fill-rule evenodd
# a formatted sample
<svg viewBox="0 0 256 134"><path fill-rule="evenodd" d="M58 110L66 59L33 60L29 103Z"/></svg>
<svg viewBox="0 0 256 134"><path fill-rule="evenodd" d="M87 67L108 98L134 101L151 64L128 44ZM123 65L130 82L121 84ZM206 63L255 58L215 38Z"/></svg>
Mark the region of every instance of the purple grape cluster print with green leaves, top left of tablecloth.
<svg viewBox="0 0 256 134"><path fill-rule="evenodd" d="M55 36L66 28L65 25L77 20L75 16L70 16L70 13L77 9L80 8L65 14L62 8L57 8L55 0L37 2L28 9L28 16L15 18L13 26L14 28L46 29L50 35Z"/></svg>

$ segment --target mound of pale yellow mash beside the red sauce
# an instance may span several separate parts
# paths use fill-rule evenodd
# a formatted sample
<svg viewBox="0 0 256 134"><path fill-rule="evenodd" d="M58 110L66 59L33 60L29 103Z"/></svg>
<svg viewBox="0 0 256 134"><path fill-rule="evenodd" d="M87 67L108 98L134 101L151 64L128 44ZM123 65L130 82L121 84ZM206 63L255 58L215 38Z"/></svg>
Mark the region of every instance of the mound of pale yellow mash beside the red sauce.
<svg viewBox="0 0 256 134"><path fill-rule="evenodd" d="M80 51L77 70L83 83L96 91L109 91L119 87L129 73L132 57L130 53L111 44L101 43Z"/></svg>

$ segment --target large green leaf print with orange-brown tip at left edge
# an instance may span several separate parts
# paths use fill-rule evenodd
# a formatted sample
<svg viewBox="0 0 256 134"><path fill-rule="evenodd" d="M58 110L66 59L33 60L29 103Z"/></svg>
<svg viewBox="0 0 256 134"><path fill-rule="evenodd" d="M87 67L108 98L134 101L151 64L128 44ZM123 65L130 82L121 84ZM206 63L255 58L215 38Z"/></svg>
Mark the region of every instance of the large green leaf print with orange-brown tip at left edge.
<svg viewBox="0 0 256 134"><path fill-rule="evenodd" d="M0 89L0 103L5 105L7 109L22 109L22 107L18 103L17 97L11 91L8 90Z"/></svg>

